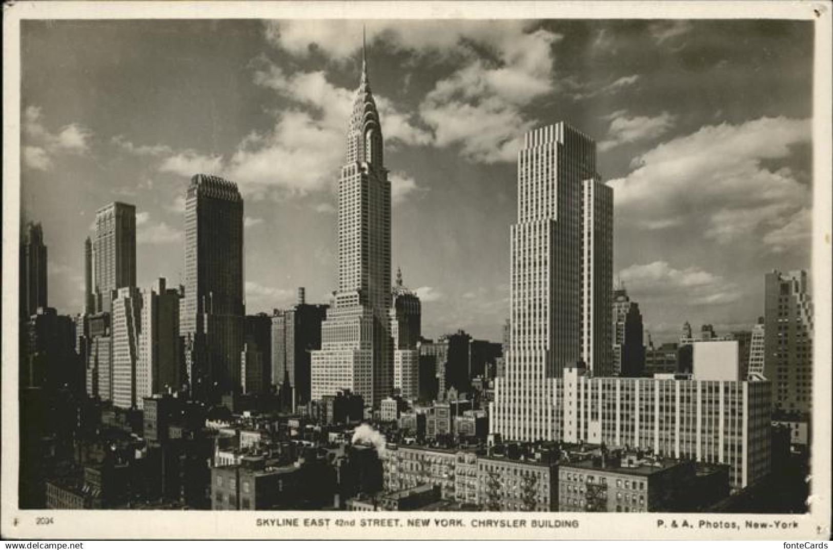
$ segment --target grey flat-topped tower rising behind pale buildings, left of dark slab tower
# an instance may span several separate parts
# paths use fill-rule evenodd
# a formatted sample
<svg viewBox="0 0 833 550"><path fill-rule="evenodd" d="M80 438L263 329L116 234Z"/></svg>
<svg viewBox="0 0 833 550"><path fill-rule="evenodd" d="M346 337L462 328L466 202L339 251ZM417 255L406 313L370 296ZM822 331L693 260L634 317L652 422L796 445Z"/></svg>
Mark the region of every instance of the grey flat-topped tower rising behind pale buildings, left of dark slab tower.
<svg viewBox="0 0 833 550"><path fill-rule="evenodd" d="M119 288L136 286L136 207L110 203L96 213L92 291L96 312L110 312Z"/></svg>

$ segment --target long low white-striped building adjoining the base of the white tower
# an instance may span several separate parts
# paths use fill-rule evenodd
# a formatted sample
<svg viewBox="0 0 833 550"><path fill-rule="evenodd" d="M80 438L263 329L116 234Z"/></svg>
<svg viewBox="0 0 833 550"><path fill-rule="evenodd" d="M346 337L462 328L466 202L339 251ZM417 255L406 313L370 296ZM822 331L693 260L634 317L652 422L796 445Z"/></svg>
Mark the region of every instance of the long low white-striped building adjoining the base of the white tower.
<svg viewBox="0 0 833 550"><path fill-rule="evenodd" d="M728 464L733 488L771 468L770 384L666 378L593 378L568 368L558 380L555 439L651 450Z"/></svg>

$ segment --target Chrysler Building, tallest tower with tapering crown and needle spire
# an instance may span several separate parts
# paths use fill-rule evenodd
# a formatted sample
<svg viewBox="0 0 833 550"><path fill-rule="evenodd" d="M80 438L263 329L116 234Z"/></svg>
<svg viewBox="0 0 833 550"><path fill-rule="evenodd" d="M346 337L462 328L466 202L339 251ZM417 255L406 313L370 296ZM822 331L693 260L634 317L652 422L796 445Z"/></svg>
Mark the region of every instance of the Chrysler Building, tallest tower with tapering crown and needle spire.
<svg viewBox="0 0 833 550"><path fill-rule="evenodd" d="M382 127L362 62L338 180L338 288L312 353L312 398L342 388L378 403L392 392L391 183Z"/></svg>

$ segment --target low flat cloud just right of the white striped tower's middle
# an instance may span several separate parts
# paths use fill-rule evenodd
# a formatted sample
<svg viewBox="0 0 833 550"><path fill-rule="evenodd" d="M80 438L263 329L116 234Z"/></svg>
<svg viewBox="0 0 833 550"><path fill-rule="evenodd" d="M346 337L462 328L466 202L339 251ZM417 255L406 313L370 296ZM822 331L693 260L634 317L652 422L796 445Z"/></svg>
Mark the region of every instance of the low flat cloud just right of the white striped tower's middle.
<svg viewBox="0 0 833 550"><path fill-rule="evenodd" d="M647 303L724 305L741 298L735 283L701 268L674 268L666 262L632 265L619 272L628 292Z"/></svg>

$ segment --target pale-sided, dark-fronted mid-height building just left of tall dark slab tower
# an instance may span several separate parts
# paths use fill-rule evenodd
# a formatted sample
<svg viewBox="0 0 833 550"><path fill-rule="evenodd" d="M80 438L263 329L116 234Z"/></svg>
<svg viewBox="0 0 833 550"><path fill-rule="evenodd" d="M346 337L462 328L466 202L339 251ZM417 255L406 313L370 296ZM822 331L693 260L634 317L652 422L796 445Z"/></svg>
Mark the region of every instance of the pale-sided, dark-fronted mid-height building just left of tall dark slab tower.
<svg viewBox="0 0 833 550"><path fill-rule="evenodd" d="M179 292L167 288L159 278L152 288L142 290L141 331L136 367L136 399L167 390L177 391L182 384L182 349L179 337Z"/></svg>

